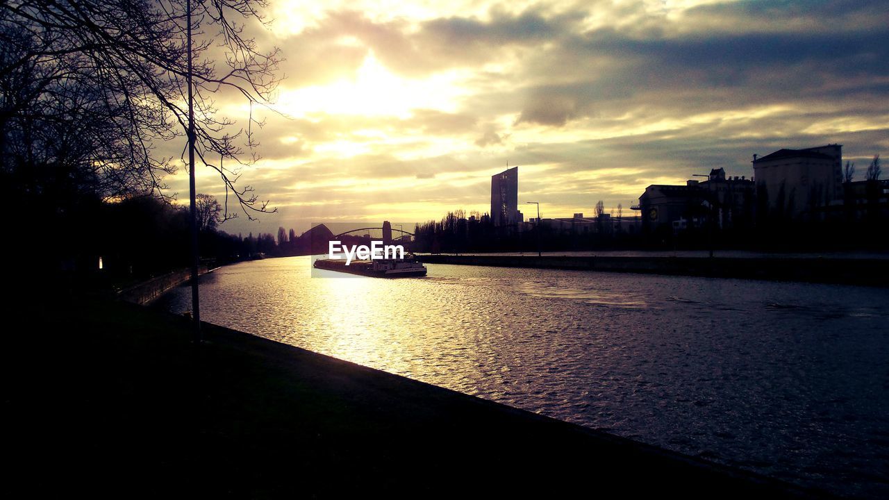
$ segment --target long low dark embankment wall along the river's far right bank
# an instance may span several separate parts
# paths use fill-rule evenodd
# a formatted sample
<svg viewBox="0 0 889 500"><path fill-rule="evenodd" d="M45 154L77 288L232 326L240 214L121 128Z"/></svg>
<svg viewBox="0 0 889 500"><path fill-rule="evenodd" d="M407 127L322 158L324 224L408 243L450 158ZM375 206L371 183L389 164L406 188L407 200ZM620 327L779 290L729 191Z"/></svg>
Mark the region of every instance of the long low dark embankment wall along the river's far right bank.
<svg viewBox="0 0 889 500"><path fill-rule="evenodd" d="M420 255L422 262L887 286L889 259Z"/></svg>

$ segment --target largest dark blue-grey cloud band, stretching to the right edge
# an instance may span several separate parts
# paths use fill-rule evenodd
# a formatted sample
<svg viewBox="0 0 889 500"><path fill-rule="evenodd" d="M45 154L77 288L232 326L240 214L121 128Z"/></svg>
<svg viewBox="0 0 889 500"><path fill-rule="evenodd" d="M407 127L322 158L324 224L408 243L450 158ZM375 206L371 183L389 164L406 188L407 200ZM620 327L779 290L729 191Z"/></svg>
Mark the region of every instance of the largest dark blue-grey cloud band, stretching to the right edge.
<svg viewBox="0 0 889 500"><path fill-rule="evenodd" d="M525 88L520 121L565 125L598 109L650 103L655 107L717 109L725 104L886 96L889 25L857 33L692 36L637 39L613 29L575 38L541 55L531 75L571 75L580 81ZM561 53L559 53L561 52ZM553 61L607 58L606 72L576 74ZM585 79L593 77L594 79ZM861 79L864 77L864 79ZM855 80L860 82L856 83ZM673 99L664 100L669 93ZM598 105L598 106L597 106Z"/></svg>

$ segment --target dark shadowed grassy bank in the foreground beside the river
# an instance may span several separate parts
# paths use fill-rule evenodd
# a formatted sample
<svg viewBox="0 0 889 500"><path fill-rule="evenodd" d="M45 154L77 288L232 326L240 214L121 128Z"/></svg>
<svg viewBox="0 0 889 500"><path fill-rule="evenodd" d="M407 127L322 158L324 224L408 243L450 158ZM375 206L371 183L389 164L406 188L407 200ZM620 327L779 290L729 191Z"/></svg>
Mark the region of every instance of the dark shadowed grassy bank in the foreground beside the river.
<svg viewBox="0 0 889 500"><path fill-rule="evenodd" d="M814 496L120 302L12 311L4 496Z"/></svg>

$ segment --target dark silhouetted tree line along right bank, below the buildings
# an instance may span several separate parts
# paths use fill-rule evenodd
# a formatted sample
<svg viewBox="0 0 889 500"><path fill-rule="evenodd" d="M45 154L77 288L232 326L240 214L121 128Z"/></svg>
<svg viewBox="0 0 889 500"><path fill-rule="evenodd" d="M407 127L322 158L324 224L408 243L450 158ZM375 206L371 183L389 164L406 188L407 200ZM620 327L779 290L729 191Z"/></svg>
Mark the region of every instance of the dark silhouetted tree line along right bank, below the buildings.
<svg viewBox="0 0 889 500"><path fill-rule="evenodd" d="M687 225L661 223L645 230L645 223L631 219L624 229L623 206L605 213L599 200L593 223L571 219L520 223L494 227L488 214L450 211L439 221L417 224L415 252L544 252L593 251L598 249L750 249L764 251L885 250L889 232L889 181L881 180L882 165L875 155L864 181L853 181L855 165L842 170L843 199L833 200L823 187L813 184L804 193L808 200L803 215L797 192L779 187L774 197L758 185L743 203L721 205L716 199L689 197L683 217ZM714 197L715 198L715 197ZM707 203L702 203L707 201ZM639 222L636 224L635 222ZM641 230L636 230L641 227Z"/></svg>

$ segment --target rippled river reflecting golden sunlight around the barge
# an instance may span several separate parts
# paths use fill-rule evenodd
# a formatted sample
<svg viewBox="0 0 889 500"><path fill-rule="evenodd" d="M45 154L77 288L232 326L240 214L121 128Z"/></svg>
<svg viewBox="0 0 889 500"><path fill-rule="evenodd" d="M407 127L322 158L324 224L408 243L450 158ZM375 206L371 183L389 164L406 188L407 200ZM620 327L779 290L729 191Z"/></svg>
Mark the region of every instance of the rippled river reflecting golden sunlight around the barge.
<svg viewBox="0 0 889 500"><path fill-rule="evenodd" d="M202 319L844 496L889 496L889 289L428 264L201 280ZM316 274L316 276L317 276ZM155 307L189 309L187 287Z"/></svg>

